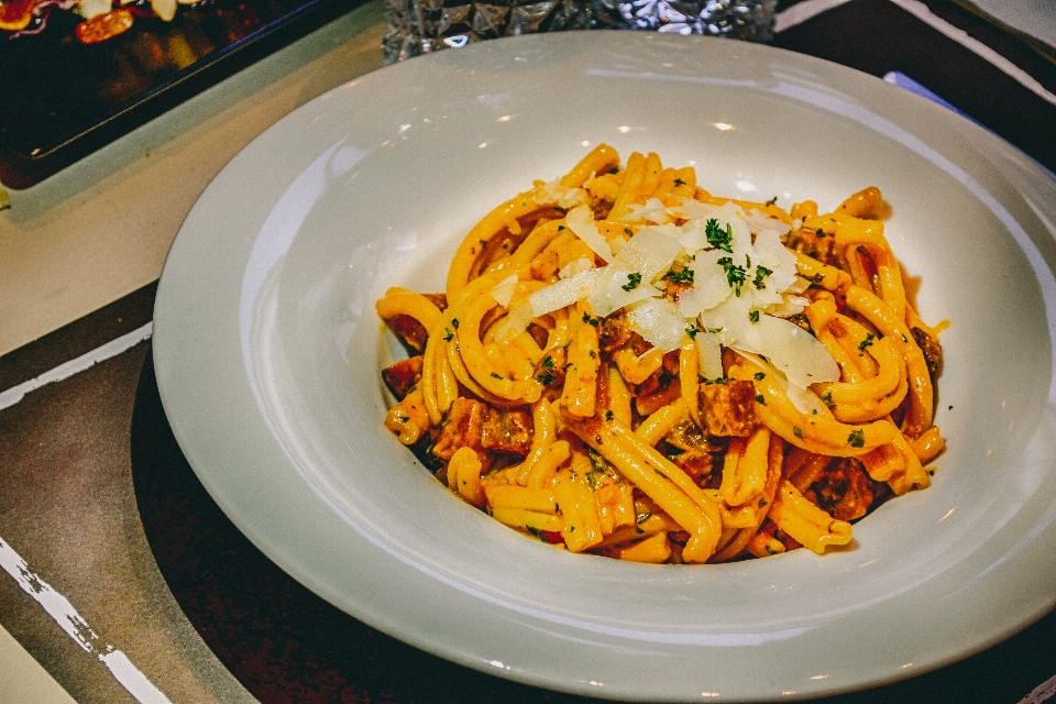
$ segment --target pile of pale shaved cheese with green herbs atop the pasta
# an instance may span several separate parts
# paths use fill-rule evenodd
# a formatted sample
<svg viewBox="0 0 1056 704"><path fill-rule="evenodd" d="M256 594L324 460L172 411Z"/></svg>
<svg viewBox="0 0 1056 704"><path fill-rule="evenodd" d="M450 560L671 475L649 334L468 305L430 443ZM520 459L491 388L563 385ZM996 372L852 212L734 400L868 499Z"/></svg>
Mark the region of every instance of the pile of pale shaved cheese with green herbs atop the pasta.
<svg viewBox="0 0 1056 704"><path fill-rule="evenodd" d="M675 218L684 222L675 224ZM783 222L755 211L746 215L734 202L716 206L690 198L671 207L650 200L634 206L625 219L653 224L614 253L590 208L568 213L569 228L606 266L593 268L586 260L568 264L558 283L529 297L535 315L584 299L603 318L626 309L630 328L664 352L676 349L693 324L700 330L696 342L706 377L723 375L722 348L732 348L780 375L798 407L810 405L811 384L839 378L839 367L821 342L776 317L810 305L800 296L804 283L795 255L781 242L789 231ZM672 268L692 273L678 302L664 296L661 283Z"/></svg>

